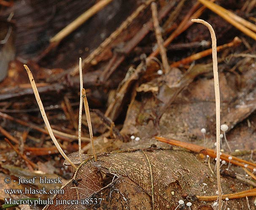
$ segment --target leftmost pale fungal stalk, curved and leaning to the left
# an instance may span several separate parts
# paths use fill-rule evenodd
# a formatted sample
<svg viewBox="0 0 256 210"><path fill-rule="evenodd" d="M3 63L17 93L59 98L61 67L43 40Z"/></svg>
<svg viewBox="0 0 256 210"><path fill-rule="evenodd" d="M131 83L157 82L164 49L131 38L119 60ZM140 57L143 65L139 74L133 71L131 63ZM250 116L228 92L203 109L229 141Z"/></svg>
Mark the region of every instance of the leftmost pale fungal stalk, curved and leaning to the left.
<svg viewBox="0 0 256 210"><path fill-rule="evenodd" d="M44 108L43 108L43 103L42 103L42 101L41 101L41 99L40 99L40 96L39 96L39 93L38 93L38 89L37 89L37 87L36 87L36 85L35 85L35 80L34 80L34 78L33 78L33 75L32 75L32 73L31 73L30 69L29 69L26 65L24 65L24 68L25 68L26 71L27 71L27 74L28 74L28 77L29 77L29 79L30 79L30 83L31 83L32 89L33 89L34 94L35 94L36 101L38 102L38 106L39 106L40 112L41 112L42 117L43 117L43 121L44 121L44 123L46 124L46 128L47 128L47 130L48 130L48 132L49 132L49 135L51 136L52 141L54 142L55 146L56 146L57 149L59 150L59 153L67 160L67 162L69 162L70 165L73 166L73 168L76 168L75 164L67 157L67 155L65 154L65 152L64 152L64 151L62 150L62 148L59 146L59 143L58 143L57 139L55 138L55 136L54 136L54 134L53 134L53 132L52 132L50 123L49 123L49 121L48 121L48 118L47 118L47 116L46 116L45 110L44 110Z"/></svg>

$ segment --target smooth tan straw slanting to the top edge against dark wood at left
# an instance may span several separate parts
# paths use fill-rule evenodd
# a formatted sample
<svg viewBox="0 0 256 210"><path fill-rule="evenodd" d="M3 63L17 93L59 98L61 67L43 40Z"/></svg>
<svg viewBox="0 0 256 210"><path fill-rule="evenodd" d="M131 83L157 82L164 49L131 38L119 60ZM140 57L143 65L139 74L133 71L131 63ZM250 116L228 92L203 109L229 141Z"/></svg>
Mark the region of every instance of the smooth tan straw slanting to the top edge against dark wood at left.
<svg viewBox="0 0 256 210"><path fill-rule="evenodd" d="M62 39L67 37L68 34L72 33L79 26L84 24L90 17L102 10L106 5L108 5L112 0L101 0L95 5L93 5L89 10L85 11L81 16L76 18L73 22L68 24L64 29L57 33L54 37L50 39L50 42L60 42Z"/></svg>

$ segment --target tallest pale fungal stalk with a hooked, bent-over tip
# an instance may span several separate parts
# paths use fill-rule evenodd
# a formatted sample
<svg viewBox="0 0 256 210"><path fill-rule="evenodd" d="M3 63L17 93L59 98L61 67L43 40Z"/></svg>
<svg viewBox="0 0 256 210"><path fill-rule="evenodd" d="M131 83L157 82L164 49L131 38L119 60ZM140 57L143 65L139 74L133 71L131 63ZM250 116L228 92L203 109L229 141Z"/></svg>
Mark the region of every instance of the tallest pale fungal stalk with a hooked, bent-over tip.
<svg viewBox="0 0 256 210"><path fill-rule="evenodd" d="M213 78L214 78L214 91L215 91L215 101L216 101L216 157L217 157L217 186L218 186L218 209L221 210L221 175L220 175L220 128L221 128L221 100L220 100L220 89L218 84L218 62L217 62L217 41L216 36L213 30L213 27L204 20L201 19L192 19L192 22L200 23L205 25L211 34L212 39L212 49L213 49Z"/></svg>

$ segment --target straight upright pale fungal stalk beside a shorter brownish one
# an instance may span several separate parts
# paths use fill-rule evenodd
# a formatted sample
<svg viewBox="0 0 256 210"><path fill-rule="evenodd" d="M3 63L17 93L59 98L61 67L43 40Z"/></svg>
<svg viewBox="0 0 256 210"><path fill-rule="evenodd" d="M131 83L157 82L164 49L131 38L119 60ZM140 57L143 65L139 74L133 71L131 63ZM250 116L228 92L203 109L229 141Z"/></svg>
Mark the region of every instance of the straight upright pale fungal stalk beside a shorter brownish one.
<svg viewBox="0 0 256 210"><path fill-rule="evenodd" d="M82 109L83 109L83 97L82 97L82 89L83 89L83 73L82 73L82 59L79 58L79 77L80 77L80 104L79 104L79 117L78 117L78 150L79 150L79 158L80 163L82 163L82 155L81 155L81 125L82 125Z"/></svg>

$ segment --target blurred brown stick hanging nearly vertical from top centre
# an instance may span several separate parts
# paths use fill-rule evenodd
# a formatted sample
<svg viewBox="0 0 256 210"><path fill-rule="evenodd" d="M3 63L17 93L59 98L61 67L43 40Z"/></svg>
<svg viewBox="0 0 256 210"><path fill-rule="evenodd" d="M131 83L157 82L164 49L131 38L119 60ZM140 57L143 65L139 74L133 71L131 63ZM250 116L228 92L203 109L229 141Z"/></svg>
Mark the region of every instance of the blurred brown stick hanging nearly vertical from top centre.
<svg viewBox="0 0 256 210"><path fill-rule="evenodd" d="M153 24L154 24L155 34L156 34L157 46L159 47L162 63L164 66L164 71L168 73L170 71L170 66L167 60L166 49L164 48L164 40L162 38L162 33L159 26L158 18L157 18L156 3L154 2L151 3L151 10L152 10L152 19L153 19Z"/></svg>

